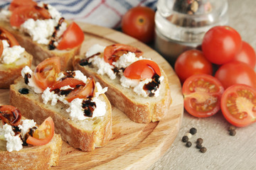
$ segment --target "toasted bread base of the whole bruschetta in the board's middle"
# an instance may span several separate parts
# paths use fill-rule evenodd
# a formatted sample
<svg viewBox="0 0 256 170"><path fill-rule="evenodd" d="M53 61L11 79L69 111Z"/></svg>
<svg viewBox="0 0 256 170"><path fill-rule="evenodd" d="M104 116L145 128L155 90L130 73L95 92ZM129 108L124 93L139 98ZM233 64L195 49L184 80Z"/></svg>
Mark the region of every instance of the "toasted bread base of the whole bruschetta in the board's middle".
<svg viewBox="0 0 256 170"><path fill-rule="evenodd" d="M20 94L19 89L28 89L28 94ZM10 86L10 103L19 108L26 118L43 123L50 116L55 123L55 132L59 133L69 145L80 148L83 151L92 151L95 147L103 147L112 137L112 108L105 94L100 99L106 103L106 114L90 120L70 120L65 111L68 106L58 102L55 106L44 104L41 94L34 93L24 83L22 77L16 79Z"/></svg>

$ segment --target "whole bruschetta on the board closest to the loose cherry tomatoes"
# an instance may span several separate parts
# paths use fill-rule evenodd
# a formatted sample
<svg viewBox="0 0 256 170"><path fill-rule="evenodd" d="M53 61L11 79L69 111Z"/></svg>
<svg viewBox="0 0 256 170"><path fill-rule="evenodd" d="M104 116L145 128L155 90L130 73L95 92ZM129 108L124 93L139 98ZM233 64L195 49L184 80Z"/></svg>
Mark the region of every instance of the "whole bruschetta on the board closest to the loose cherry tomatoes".
<svg viewBox="0 0 256 170"><path fill-rule="evenodd" d="M161 120L171 104L168 79L156 62L137 47L93 45L75 56L74 69L107 86L107 98L136 123Z"/></svg>

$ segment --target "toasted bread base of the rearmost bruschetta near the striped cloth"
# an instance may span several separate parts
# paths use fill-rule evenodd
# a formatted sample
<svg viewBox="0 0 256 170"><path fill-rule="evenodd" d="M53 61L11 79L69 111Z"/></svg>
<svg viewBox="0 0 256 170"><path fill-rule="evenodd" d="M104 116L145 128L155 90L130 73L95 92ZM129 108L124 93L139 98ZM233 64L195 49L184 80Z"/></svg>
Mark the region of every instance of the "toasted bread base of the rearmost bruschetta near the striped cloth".
<svg viewBox="0 0 256 170"><path fill-rule="evenodd" d="M70 50L48 50L47 45L41 45L34 42L29 35L19 32L11 27L6 21L0 21L0 27L9 30L14 35L21 47L24 47L28 53L33 55L33 64L37 65L48 57L60 57L61 69L72 70L72 58L78 55L80 52L81 45L74 47Z"/></svg>

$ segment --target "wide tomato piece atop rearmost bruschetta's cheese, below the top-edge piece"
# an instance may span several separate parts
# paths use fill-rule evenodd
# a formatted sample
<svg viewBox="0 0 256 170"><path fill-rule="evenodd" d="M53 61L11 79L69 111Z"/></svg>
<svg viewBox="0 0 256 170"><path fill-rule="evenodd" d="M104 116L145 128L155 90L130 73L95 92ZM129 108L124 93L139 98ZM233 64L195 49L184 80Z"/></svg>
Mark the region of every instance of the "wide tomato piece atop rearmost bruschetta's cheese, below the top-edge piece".
<svg viewBox="0 0 256 170"><path fill-rule="evenodd" d="M33 18L33 20L49 19L51 16L46 8L40 6L18 6L11 13L11 26L19 27L28 18Z"/></svg>

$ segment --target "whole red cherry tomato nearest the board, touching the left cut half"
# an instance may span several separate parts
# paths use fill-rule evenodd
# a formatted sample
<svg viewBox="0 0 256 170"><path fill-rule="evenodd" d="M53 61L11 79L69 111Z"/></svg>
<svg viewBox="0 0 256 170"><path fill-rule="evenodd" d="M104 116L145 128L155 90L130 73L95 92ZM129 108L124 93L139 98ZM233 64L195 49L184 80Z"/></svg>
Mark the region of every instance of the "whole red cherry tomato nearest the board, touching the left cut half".
<svg viewBox="0 0 256 170"><path fill-rule="evenodd" d="M179 55L174 69L182 83L193 74L213 74L212 64L199 50L188 50Z"/></svg>

